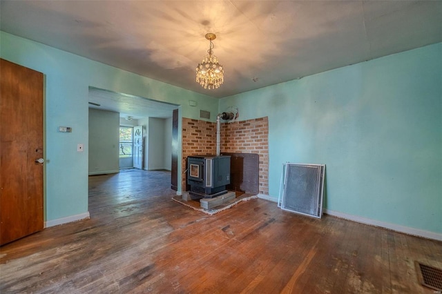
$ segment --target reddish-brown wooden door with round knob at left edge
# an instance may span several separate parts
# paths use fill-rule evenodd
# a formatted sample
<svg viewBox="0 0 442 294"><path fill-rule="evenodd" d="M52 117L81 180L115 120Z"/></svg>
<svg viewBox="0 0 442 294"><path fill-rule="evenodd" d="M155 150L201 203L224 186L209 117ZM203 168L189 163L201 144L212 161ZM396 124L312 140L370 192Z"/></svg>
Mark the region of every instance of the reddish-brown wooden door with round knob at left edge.
<svg viewBox="0 0 442 294"><path fill-rule="evenodd" d="M0 245L43 229L41 72L0 59Z"/></svg>

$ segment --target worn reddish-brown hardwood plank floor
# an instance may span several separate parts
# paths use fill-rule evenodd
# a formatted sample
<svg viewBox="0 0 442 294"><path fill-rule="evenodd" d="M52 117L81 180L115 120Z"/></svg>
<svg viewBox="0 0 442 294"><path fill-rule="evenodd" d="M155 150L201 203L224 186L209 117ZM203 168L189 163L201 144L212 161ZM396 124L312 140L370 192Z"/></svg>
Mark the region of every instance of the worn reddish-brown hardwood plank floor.
<svg viewBox="0 0 442 294"><path fill-rule="evenodd" d="M200 213L166 171L89 186L90 219L0 248L1 293L434 293L414 261L442 268L442 242L263 199Z"/></svg>

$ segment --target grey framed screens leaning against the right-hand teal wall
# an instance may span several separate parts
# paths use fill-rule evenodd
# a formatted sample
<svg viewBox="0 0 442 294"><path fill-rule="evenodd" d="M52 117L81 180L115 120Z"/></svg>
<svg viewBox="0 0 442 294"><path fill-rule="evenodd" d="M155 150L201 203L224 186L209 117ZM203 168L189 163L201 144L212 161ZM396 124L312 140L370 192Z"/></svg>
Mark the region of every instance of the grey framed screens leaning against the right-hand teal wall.
<svg viewBox="0 0 442 294"><path fill-rule="evenodd" d="M324 170L325 166L318 164L287 164L281 208L321 217Z"/></svg>

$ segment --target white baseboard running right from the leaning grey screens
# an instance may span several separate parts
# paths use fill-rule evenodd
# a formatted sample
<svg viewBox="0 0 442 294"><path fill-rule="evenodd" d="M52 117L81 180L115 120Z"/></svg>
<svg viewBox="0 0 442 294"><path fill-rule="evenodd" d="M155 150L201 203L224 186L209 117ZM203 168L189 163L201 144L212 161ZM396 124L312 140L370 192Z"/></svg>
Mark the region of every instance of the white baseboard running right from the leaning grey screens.
<svg viewBox="0 0 442 294"><path fill-rule="evenodd" d="M327 215L333 215L334 217L340 217L343 219L348 219L353 222L359 222L361 224L369 224L371 226L381 226L382 228L387 228L392 231L405 233L408 235L414 235L418 237L424 237L427 239L434 239L442 241L442 234L434 233L430 231L421 230L419 228L410 228L408 226L401 226L398 224L390 224L387 222L381 222L376 219L368 219L366 217L360 217L358 215L348 215L347 213L340 213L334 210L324 209L324 213Z"/></svg>

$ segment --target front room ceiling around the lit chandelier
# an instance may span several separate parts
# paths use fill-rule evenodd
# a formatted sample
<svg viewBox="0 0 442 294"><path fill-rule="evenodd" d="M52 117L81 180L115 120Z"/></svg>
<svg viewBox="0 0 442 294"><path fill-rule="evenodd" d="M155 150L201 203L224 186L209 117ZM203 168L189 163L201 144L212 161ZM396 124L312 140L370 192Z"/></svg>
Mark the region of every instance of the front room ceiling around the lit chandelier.
<svg viewBox="0 0 442 294"><path fill-rule="evenodd" d="M442 41L442 1L3 1L1 30L213 97ZM224 84L195 67L207 32Z"/></svg>

